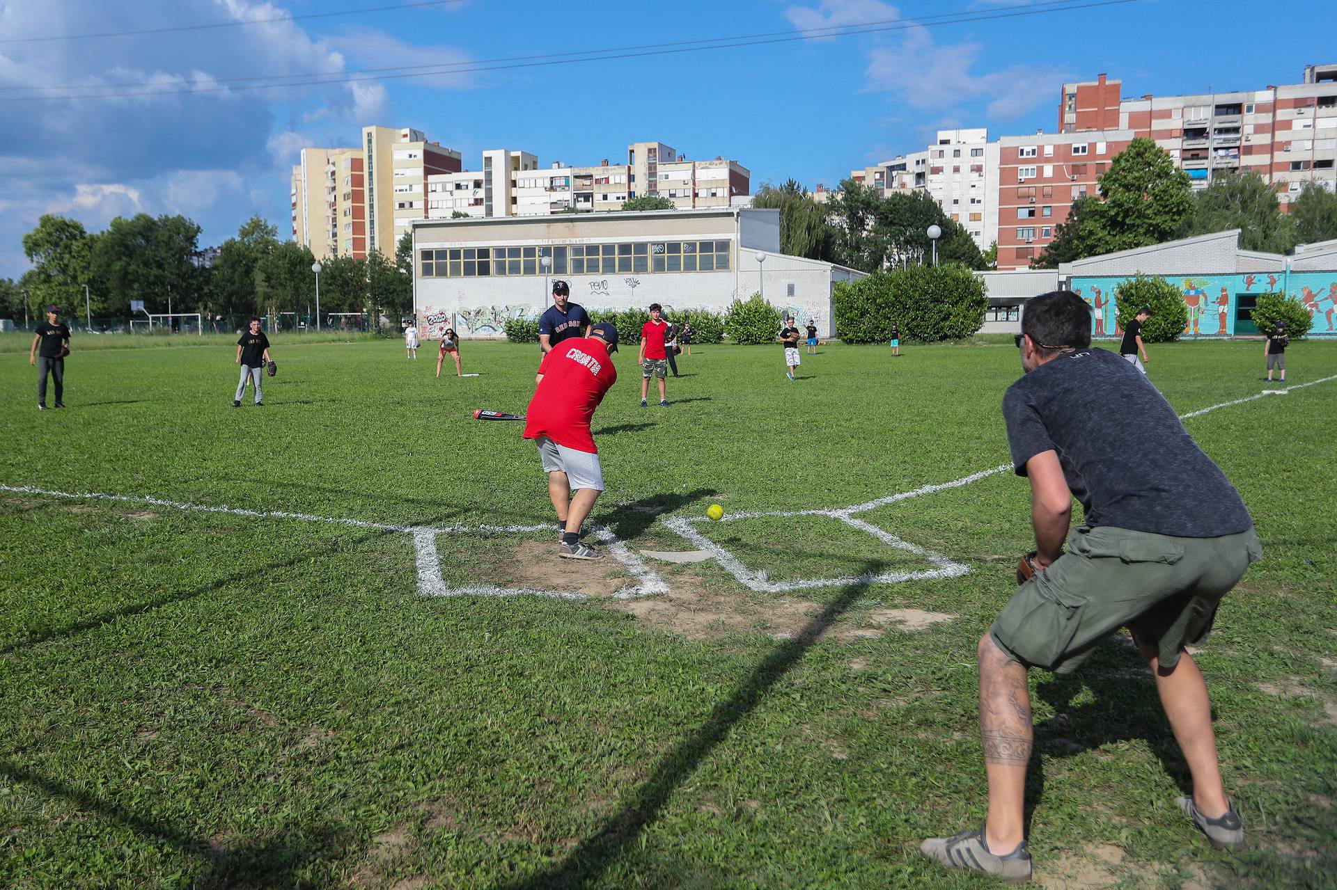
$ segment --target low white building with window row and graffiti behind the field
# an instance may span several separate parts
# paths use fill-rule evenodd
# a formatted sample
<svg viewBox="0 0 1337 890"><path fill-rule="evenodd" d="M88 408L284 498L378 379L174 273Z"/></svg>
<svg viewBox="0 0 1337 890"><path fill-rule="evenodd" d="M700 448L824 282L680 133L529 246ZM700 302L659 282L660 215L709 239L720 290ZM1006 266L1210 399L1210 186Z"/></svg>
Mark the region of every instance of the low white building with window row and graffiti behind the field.
<svg viewBox="0 0 1337 890"><path fill-rule="evenodd" d="M537 318L550 283L587 310L705 309L762 294L802 327L833 327L836 282L856 269L779 253L779 211L751 207L413 220L413 314L422 337L504 337Z"/></svg>

